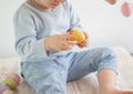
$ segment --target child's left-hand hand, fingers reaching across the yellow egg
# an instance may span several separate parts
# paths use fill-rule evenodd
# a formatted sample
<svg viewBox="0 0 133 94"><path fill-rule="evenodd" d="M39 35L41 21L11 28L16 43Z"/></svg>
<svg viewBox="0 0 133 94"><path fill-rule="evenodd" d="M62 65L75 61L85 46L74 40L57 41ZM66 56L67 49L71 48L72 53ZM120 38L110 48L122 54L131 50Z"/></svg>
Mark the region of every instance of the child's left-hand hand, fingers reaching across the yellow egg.
<svg viewBox="0 0 133 94"><path fill-rule="evenodd" d="M76 43L76 41L70 40L72 38L73 38L73 35L71 35L70 33L57 34L57 35L53 35L50 38L45 38L45 40L44 40L45 50L47 51L50 51L50 50L57 50L57 51L70 50Z"/></svg>

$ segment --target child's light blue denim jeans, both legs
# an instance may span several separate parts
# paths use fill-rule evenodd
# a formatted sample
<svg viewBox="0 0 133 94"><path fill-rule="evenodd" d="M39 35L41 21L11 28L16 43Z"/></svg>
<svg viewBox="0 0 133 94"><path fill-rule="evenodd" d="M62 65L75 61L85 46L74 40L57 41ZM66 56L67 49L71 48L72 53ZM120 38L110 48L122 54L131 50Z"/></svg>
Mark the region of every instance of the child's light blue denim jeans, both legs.
<svg viewBox="0 0 133 94"><path fill-rule="evenodd" d="M109 48L70 52L44 60L23 62L22 74L35 94L66 94L66 82L103 69L117 70L116 55Z"/></svg>

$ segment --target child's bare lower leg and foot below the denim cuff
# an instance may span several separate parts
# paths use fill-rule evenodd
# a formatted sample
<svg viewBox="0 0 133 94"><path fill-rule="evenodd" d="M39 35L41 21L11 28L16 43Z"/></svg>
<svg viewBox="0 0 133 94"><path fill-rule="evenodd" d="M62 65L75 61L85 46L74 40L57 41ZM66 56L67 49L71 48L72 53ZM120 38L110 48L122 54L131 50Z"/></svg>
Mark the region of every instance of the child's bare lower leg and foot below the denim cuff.
<svg viewBox="0 0 133 94"><path fill-rule="evenodd" d="M98 73L100 94L133 94L133 91L116 87L116 73L111 70L101 70Z"/></svg>

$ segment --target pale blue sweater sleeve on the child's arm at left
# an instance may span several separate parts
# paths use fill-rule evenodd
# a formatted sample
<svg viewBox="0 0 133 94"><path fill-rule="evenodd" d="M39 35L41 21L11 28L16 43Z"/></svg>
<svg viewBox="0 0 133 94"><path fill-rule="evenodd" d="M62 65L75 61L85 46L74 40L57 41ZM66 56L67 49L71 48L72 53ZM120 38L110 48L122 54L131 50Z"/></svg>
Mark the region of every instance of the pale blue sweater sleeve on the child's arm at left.
<svg viewBox="0 0 133 94"><path fill-rule="evenodd" d="M44 38L38 39L35 24L30 11L20 9L14 14L16 50L23 59L45 58Z"/></svg>

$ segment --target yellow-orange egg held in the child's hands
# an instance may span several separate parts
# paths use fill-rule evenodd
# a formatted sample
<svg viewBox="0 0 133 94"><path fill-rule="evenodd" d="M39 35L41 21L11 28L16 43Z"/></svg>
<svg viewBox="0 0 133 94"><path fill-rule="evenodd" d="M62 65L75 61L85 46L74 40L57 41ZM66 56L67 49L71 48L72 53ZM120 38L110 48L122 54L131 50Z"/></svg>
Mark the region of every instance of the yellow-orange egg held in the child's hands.
<svg viewBox="0 0 133 94"><path fill-rule="evenodd" d="M78 43L81 43L82 41L85 40L85 35L80 29L71 29L70 34L74 35L72 41L76 41Z"/></svg>

